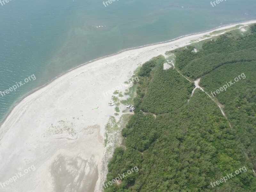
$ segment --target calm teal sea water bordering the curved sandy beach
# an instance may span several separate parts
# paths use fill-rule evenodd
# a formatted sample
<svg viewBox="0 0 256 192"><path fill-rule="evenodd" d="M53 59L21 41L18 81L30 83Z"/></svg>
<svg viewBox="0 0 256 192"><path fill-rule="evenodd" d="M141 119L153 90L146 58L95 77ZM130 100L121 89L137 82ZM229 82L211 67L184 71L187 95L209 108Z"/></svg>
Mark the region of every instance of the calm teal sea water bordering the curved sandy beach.
<svg viewBox="0 0 256 192"><path fill-rule="evenodd" d="M0 121L54 77L121 50L256 19L255 0L12 0L0 4ZM99 27L100 26L100 27ZM93 81L93 80L92 80Z"/></svg>

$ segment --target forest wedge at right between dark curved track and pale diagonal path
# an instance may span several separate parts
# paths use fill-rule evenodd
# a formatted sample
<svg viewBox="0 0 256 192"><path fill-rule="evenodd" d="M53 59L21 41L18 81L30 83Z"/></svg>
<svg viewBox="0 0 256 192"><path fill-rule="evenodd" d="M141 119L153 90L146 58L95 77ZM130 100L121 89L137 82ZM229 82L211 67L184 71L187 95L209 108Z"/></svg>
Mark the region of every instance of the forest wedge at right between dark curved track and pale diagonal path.
<svg viewBox="0 0 256 192"><path fill-rule="evenodd" d="M224 105L224 111L232 128L236 131L236 140L243 143L241 149L256 168L256 61L238 62L224 65L201 78L207 92L219 89L225 82L244 73L236 84L227 91L217 94L218 101Z"/></svg>

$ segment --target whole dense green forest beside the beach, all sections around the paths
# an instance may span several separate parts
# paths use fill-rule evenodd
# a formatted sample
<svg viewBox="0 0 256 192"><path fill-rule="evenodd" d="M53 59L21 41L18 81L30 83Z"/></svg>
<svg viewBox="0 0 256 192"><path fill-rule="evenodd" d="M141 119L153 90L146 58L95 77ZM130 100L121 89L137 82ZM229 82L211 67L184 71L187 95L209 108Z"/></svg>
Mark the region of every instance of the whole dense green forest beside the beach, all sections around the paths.
<svg viewBox="0 0 256 192"><path fill-rule="evenodd" d="M135 166L139 171L106 192L256 191L256 25L193 49L173 51L175 67L190 79L201 77L206 92L246 76L214 97L227 118L200 89L187 102L195 86L174 68L164 70L164 56L144 63L136 74L135 114L122 130L126 148L115 149L106 182ZM242 167L247 171L211 186Z"/></svg>

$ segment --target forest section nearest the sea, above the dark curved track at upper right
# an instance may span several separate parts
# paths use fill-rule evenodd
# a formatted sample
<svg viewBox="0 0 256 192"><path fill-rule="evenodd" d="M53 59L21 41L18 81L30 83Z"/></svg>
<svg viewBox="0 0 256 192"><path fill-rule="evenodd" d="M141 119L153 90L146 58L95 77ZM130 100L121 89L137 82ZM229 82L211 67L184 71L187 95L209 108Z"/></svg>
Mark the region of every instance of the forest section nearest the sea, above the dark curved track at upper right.
<svg viewBox="0 0 256 192"><path fill-rule="evenodd" d="M255 45L256 25L251 27L251 32L246 36L233 31L221 35L217 40L208 41L199 52L192 52L193 46L173 51L176 55L175 67L183 75L196 79L222 65L255 61Z"/></svg>

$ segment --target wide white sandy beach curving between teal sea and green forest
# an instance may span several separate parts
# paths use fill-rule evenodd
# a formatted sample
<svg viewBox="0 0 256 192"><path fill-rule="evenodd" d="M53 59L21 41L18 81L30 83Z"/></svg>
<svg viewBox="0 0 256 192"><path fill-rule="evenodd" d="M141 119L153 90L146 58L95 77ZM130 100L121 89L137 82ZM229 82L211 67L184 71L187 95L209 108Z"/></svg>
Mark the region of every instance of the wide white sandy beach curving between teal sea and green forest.
<svg viewBox="0 0 256 192"><path fill-rule="evenodd" d="M256 20L240 24L252 23ZM28 95L0 127L0 182L18 172L24 175L5 187L0 185L0 191L100 191L106 177L102 174L104 126L109 118L105 114L115 113L114 107L108 106L112 94L104 96L103 92L127 81L152 57L236 25L90 62ZM121 105L121 111L124 108ZM24 173L31 165L36 170Z"/></svg>

